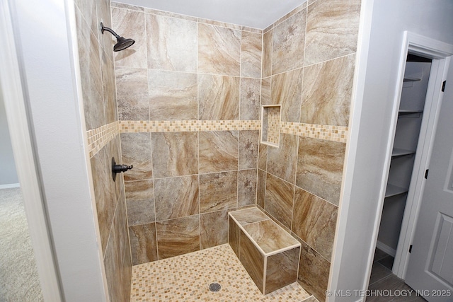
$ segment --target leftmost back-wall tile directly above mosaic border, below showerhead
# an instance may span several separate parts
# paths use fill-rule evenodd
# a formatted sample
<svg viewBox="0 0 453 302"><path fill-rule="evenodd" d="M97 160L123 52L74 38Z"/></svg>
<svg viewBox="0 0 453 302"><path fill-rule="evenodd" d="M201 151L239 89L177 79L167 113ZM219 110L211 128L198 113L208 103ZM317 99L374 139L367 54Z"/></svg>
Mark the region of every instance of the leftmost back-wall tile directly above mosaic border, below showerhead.
<svg viewBox="0 0 453 302"><path fill-rule="evenodd" d="M149 120L147 69L116 67L118 117L120 120Z"/></svg>

